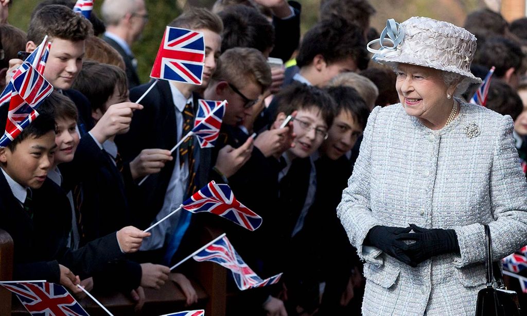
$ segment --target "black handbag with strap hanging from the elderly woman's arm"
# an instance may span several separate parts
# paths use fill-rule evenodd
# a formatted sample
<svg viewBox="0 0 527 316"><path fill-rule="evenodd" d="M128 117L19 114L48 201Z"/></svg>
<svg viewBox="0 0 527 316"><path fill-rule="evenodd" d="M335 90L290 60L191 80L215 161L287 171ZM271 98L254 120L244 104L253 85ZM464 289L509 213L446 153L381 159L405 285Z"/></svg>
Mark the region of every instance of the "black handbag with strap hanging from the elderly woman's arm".
<svg viewBox="0 0 527 316"><path fill-rule="evenodd" d="M484 226L487 284L477 293L476 316L520 316L518 294L505 288L499 262L492 262L491 231L489 226Z"/></svg>

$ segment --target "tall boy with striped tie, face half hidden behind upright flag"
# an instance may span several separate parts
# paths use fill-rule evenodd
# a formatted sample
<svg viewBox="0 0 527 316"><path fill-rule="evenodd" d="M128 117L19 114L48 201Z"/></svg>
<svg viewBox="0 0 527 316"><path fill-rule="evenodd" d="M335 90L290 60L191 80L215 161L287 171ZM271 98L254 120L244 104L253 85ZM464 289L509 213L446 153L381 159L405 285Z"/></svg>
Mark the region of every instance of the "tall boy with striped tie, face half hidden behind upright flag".
<svg viewBox="0 0 527 316"><path fill-rule="evenodd" d="M206 86L216 70L216 60L221 47L220 34L223 29L221 19L207 9L190 8L174 19L169 26L203 32L206 54L203 86ZM137 100L151 84L133 88L130 91L131 100ZM177 144L184 135L184 122L187 121L190 128L193 126L193 115L198 106L197 95L193 92L199 88L198 85L160 80L141 101L144 110L134 114L130 132L116 138L124 160L134 159L143 149L170 150ZM137 214L141 215L138 223L145 227L177 209L183 199L207 183L208 170L199 170L203 160L199 159L200 162L195 163L200 155L197 141L191 139L183 147L188 150L182 150L181 153L180 150L175 151L174 159L167 161L159 173L151 175L139 187L140 191L136 195L140 196L142 201L134 206L139 210ZM204 174L204 177L201 174ZM152 238L145 240L143 244L142 250L149 251L145 258L168 264L175 250L183 244L181 238L189 224L188 212L178 212L156 226L152 230ZM169 244L171 246L167 250Z"/></svg>

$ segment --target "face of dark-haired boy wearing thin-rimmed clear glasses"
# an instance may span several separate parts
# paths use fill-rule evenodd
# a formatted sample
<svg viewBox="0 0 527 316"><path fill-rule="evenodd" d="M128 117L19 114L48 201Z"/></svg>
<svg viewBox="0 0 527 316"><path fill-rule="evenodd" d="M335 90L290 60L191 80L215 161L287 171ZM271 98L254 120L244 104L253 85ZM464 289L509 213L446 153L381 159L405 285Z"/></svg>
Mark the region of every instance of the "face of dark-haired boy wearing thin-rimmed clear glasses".
<svg viewBox="0 0 527 316"><path fill-rule="evenodd" d="M297 111L293 120L295 146L288 150L294 157L305 158L313 154L324 141L328 126L321 111L315 107L304 107Z"/></svg>

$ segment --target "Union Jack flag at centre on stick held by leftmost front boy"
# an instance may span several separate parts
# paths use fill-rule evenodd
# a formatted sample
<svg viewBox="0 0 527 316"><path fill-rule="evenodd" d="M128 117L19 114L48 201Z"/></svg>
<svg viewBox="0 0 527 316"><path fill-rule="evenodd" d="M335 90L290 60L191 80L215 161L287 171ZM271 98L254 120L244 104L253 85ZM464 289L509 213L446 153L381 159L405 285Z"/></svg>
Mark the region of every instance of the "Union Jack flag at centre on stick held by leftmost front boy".
<svg viewBox="0 0 527 316"><path fill-rule="evenodd" d="M192 213L210 212L250 231L259 228L262 223L262 218L241 204L227 184L217 184L214 181L194 193L181 204L181 208Z"/></svg>

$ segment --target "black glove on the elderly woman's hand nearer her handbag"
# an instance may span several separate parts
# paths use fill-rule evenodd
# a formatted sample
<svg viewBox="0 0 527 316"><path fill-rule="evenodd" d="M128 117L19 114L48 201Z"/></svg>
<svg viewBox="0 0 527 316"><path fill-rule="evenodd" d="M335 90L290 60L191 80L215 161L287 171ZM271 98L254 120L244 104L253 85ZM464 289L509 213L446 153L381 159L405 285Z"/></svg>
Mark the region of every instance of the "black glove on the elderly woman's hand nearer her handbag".
<svg viewBox="0 0 527 316"><path fill-rule="evenodd" d="M397 236L397 240L413 240L404 251L408 257L417 264L444 253L459 253L456 232L453 229L425 229L410 224L414 233L405 233ZM413 265L413 266L416 266Z"/></svg>

